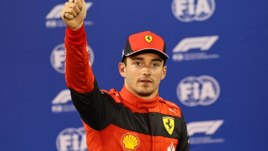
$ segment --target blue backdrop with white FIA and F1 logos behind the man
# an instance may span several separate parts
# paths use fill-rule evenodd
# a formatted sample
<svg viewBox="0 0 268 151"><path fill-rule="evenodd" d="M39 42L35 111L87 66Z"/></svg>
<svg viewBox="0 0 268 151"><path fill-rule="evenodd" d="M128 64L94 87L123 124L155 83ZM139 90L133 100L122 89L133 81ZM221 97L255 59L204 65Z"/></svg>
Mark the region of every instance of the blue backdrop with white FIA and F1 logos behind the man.
<svg viewBox="0 0 268 151"><path fill-rule="evenodd" d="M64 79L65 1L2 3L0 150L86 150ZM163 37L170 56L159 95L184 112L190 150L267 150L268 2L92 0L86 6L101 89L122 89L118 62L126 39L150 30Z"/></svg>

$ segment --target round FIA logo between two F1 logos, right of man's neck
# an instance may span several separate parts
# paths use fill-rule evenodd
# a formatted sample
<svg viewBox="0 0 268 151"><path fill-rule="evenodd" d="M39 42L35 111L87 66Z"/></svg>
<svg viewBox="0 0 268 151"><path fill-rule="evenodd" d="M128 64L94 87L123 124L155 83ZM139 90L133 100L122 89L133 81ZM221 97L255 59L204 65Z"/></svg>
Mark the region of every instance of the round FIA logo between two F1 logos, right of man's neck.
<svg viewBox="0 0 268 151"><path fill-rule="evenodd" d="M210 105L219 95L220 85L209 75L184 78L177 87L178 99L186 106Z"/></svg>

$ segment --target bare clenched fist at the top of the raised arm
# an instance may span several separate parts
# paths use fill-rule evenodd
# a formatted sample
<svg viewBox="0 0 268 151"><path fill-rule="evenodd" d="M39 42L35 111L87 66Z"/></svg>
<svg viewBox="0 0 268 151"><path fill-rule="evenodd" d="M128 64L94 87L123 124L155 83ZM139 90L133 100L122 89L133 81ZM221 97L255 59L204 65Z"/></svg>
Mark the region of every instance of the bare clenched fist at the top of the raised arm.
<svg viewBox="0 0 268 151"><path fill-rule="evenodd" d="M73 30L79 29L86 18L85 0L69 0L62 9L61 18Z"/></svg>

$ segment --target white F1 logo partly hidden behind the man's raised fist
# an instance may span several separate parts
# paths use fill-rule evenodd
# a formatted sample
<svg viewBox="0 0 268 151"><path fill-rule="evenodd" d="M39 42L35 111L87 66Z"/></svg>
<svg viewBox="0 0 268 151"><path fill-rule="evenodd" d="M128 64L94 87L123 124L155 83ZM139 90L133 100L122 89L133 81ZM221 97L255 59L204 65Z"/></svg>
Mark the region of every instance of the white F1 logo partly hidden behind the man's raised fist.
<svg viewBox="0 0 268 151"><path fill-rule="evenodd" d="M92 6L92 2L86 3L86 10ZM56 28L56 27L66 27L66 24L62 21L60 13L65 7L64 4L56 5L46 16L46 27L47 28ZM92 21L84 21L84 25L93 25Z"/></svg>

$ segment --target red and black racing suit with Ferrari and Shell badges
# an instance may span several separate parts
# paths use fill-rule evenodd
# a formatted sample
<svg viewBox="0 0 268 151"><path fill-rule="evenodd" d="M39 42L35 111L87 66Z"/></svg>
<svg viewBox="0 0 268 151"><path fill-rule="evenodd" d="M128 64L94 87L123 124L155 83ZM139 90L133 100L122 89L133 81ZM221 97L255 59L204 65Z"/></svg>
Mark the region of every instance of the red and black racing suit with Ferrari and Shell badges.
<svg viewBox="0 0 268 151"><path fill-rule="evenodd" d="M99 90L92 73L84 25L65 36L65 79L86 130L88 150L188 151L180 108L157 94L143 100L124 86Z"/></svg>

